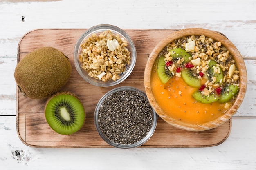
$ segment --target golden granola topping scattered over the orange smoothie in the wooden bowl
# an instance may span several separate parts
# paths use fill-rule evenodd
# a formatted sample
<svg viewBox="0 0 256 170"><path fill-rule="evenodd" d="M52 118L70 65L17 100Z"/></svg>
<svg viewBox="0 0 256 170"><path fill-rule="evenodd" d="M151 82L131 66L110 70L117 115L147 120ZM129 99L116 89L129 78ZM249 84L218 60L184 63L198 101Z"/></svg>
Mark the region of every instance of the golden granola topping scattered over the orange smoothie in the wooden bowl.
<svg viewBox="0 0 256 170"><path fill-rule="evenodd" d="M192 44L193 48L189 48L189 44ZM223 83L234 85L239 84L239 71L236 68L235 61L227 48L223 46L221 42L206 37L205 35L191 35L177 39L168 44L164 50L166 62L172 60L169 50L176 48L185 49L186 52L191 54L191 65L193 64L191 70L194 71L195 75L197 75L199 79L203 78L200 76L200 74L207 74L209 62L214 60L217 62L216 66L213 67L214 72L218 74L220 73L220 69L223 71ZM184 60L184 58L178 59L175 64L172 64L170 67L168 67L170 71L173 71L173 75L177 77L181 77L180 71L177 72L177 67L183 66L182 60ZM210 81L207 80L205 85L207 88L202 91L202 94L206 96L212 93L213 89L216 89L220 86L220 84L216 82L216 77L212 77Z"/></svg>

